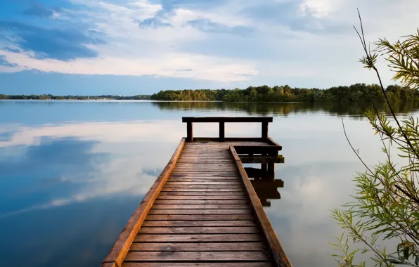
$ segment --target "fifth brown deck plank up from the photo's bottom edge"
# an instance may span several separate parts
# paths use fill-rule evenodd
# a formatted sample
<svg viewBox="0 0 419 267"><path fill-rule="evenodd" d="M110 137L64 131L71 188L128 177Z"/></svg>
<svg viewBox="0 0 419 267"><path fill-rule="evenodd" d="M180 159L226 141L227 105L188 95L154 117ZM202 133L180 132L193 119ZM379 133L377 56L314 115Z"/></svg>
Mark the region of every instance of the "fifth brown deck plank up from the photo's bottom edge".
<svg viewBox="0 0 419 267"><path fill-rule="evenodd" d="M211 227L141 227L138 232L143 234L243 234L259 233L259 227L254 226L211 226Z"/></svg>

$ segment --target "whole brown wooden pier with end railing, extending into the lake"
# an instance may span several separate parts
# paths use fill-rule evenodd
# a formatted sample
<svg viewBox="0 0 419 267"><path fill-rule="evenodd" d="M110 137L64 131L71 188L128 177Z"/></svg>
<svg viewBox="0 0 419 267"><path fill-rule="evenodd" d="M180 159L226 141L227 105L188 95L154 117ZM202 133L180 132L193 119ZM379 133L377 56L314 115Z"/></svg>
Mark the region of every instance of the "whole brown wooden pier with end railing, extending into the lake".
<svg viewBox="0 0 419 267"><path fill-rule="evenodd" d="M268 136L272 117L182 120L186 138L101 267L291 266L262 207L279 198L276 188L283 186L273 178L274 164L284 158L278 155L281 145ZM205 122L219 124L218 138L193 136L193 124ZM230 122L262 123L262 137L226 138L224 124ZM269 193L259 200L257 191L265 189Z"/></svg>

